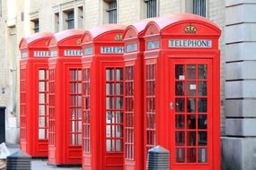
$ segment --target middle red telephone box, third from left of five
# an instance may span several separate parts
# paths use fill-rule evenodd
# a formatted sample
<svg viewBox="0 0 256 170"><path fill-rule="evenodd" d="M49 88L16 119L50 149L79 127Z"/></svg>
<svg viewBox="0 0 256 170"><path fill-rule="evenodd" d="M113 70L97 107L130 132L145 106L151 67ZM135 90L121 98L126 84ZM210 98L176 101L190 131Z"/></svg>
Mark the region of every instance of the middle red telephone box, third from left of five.
<svg viewBox="0 0 256 170"><path fill-rule="evenodd" d="M83 38L83 169L123 168L122 25L85 31Z"/></svg>

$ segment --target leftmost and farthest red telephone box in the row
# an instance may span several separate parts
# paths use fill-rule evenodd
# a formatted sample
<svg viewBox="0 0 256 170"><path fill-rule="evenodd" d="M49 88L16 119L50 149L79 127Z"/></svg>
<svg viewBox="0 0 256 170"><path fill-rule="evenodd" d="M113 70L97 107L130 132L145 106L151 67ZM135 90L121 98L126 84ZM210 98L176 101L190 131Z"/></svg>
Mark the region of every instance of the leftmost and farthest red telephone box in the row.
<svg viewBox="0 0 256 170"><path fill-rule="evenodd" d="M51 33L20 43L20 142L31 157L48 157L48 58Z"/></svg>

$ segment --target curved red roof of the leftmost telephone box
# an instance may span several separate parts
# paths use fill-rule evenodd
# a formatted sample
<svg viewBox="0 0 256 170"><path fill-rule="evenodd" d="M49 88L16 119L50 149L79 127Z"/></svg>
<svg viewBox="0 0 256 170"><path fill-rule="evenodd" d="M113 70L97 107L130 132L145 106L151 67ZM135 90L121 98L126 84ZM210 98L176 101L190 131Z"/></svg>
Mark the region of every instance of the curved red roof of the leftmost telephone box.
<svg viewBox="0 0 256 170"><path fill-rule="evenodd" d="M20 50L29 47L48 47L49 40L52 38L53 34L50 32L40 32L32 34L26 38L22 38L20 43Z"/></svg>

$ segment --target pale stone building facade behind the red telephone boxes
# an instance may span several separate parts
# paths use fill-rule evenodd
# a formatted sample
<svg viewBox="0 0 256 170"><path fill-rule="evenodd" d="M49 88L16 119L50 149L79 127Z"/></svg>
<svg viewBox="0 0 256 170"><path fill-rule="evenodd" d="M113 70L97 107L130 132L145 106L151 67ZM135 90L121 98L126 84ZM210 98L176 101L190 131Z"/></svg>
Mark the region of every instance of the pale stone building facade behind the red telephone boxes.
<svg viewBox="0 0 256 170"><path fill-rule="evenodd" d="M6 140L19 142L19 59L22 37L35 31L58 32L69 28L89 30L111 22L110 11L116 9L116 22L131 24L145 19L150 0L0 0L0 106L6 106ZM221 127L223 160L239 164L238 169L255 169L243 155L256 160L256 114L253 110L256 4L253 0L155 0L156 16L194 13L193 2L206 2L206 17L222 30L221 49ZM255 29L254 29L255 30ZM251 70L250 70L251 69ZM252 90L249 90L252 89ZM227 118L225 118L227 117ZM226 124L226 128L225 128ZM226 129L226 130L225 130ZM227 137L225 137L227 136ZM250 143L251 148L245 149ZM234 146L234 147L231 147ZM240 157L227 153L240 146ZM254 161L255 162L255 161ZM248 167L247 167L247 166ZM224 166L224 169L237 169Z"/></svg>

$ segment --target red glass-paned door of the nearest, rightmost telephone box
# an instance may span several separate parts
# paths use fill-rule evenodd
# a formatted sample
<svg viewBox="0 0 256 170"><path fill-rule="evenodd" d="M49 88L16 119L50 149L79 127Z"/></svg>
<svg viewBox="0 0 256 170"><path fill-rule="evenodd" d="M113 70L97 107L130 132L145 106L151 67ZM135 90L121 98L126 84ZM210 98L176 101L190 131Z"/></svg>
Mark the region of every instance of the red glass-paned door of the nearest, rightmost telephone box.
<svg viewBox="0 0 256 170"><path fill-rule="evenodd" d="M171 156L175 169L213 169L211 59L170 59Z"/></svg>

